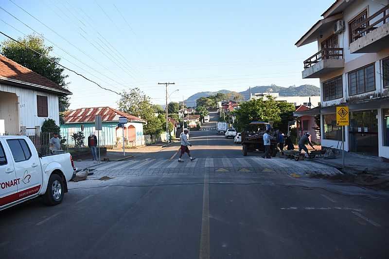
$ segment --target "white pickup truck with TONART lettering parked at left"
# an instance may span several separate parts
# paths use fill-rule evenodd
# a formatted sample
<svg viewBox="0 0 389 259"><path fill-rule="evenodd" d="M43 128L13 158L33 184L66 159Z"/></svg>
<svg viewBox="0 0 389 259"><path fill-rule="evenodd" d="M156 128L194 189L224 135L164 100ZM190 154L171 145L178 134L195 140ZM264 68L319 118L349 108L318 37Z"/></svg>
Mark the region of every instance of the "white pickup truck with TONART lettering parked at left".
<svg viewBox="0 0 389 259"><path fill-rule="evenodd" d="M69 153L41 156L30 138L0 136L0 210L39 195L61 203L75 170Z"/></svg>

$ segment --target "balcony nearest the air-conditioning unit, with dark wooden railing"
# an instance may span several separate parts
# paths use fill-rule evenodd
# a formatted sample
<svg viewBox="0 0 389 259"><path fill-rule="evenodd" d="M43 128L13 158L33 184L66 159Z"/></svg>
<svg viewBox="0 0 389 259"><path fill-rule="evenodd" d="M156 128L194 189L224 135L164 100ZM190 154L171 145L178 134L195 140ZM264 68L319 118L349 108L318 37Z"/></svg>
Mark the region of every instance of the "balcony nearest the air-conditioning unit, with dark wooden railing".
<svg viewBox="0 0 389 259"><path fill-rule="evenodd" d="M322 49L304 61L302 78L320 78L328 72L342 68L343 48Z"/></svg>

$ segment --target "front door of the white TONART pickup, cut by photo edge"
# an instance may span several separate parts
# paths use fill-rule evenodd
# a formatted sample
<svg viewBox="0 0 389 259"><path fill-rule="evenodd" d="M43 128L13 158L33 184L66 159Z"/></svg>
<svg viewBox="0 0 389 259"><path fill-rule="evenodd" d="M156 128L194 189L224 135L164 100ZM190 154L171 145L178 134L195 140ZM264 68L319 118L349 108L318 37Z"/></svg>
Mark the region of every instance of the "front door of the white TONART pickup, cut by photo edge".
<svg viewBox="0 0 389 259"><path fill-rule="evenodd" d="M18 200L18 182L6 143L0 139L0 208Z"/></svg>

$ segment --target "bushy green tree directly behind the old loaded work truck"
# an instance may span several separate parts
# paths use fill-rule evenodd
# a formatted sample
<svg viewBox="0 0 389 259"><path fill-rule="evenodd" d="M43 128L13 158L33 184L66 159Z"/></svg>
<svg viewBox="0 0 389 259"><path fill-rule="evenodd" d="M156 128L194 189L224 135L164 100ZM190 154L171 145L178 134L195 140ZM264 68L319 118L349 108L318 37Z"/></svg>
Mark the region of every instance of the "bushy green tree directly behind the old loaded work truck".
<svg viewBox="0 0 389 259"><path fill-rule="evenodd" d="M235 127L238 130L244 129L251 121L281 121L280 108L273 97L268 96L267 100L250 100L241 104L240 109L232 112L236 116Z"/></svg>

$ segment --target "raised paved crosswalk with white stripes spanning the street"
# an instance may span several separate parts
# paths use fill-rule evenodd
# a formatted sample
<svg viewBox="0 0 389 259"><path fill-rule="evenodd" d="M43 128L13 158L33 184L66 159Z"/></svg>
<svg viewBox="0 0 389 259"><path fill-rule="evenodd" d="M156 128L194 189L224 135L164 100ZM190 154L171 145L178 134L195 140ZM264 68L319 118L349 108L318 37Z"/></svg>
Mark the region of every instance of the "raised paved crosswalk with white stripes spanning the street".
<svg viewBox="0 0 389 259"><path fill-rule="evenodd" d="M129 160L121 162L107 162L93 171L93 177L125 176L125 175L153 175L153 174L195 174L195 173L326 173L336 174L339 171L326 165L311 161L294 161L284 158L263 159L260 157L245 158L197 158L194 161L184 160L178 163L177 159Z"/></svg>

